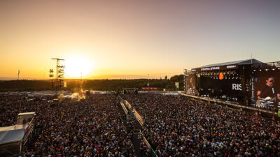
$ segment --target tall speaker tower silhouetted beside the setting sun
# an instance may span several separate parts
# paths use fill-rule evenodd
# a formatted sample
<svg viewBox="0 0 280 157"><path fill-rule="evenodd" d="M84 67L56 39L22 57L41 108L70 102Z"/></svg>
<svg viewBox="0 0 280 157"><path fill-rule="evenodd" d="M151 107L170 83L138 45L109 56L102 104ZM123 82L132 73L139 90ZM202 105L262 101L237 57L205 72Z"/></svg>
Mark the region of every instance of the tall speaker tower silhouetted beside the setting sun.
<svg viewBox="0 0 280 157"><path fill-rule="evenodd" d="M52 60L56 61L55 71L53 69L50 69L50 78L55 77L55 79L52 80L52 88L55 90L61 89L65 86L64 84L64 59L59 58L52 58ZM55 75L53 74L55 73Z"/></svg>

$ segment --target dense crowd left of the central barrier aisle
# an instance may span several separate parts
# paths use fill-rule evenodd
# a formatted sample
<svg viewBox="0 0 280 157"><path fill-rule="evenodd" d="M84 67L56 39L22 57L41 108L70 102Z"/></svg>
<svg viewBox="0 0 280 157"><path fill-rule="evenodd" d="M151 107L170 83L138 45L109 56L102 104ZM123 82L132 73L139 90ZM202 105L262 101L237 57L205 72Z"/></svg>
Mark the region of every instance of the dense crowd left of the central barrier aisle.
<svg viewBox="0 0 280 157"><path fill-rule="evenodd" d="M22 156L135 156L116 96L94 95L76 103L29 103L20 96L4 97L2 126L15 124L19 112L36 112L34 124L40 133Z"/></svg>

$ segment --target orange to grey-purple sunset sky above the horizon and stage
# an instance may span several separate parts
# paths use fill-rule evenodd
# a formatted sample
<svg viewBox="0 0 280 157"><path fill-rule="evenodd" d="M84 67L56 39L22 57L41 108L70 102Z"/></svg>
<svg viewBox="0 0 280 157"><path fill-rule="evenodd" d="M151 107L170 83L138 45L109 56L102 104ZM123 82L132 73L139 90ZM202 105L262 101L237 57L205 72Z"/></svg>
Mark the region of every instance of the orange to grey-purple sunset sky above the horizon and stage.
<svg viewBox="0 0 280 157"><path fill-rule="evenodd" d="M280 59L280 1L0 1L0 80L171 77ZM148 75L149 74L149 75Z"/></svg>

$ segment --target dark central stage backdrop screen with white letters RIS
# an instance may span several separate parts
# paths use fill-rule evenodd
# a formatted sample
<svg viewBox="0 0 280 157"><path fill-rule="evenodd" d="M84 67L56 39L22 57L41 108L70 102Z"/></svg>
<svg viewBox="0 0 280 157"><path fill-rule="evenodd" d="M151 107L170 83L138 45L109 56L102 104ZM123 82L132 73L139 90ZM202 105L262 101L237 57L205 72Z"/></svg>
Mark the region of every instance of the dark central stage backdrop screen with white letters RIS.
<svg viewBox="0 0 280 157"><path fill-rule="evenodd" d="M200 77L200 95L225 100L243 100L240 77L228 75L223 77Z"/></svg>

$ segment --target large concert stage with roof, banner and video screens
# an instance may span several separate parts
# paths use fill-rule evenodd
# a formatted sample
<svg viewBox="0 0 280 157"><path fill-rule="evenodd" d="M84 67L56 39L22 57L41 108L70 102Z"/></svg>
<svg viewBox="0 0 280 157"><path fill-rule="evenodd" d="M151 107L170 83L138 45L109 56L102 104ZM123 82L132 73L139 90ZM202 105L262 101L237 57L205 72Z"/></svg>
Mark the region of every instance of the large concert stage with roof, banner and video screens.
<svg viewBox="0 0 280 157"><path fill-rule="evenodd" d="M262 63L256 59L185 69L185 91L188 95L276 111L280 108L279 69L280 62Z"/></svg>

